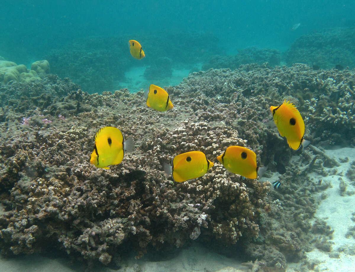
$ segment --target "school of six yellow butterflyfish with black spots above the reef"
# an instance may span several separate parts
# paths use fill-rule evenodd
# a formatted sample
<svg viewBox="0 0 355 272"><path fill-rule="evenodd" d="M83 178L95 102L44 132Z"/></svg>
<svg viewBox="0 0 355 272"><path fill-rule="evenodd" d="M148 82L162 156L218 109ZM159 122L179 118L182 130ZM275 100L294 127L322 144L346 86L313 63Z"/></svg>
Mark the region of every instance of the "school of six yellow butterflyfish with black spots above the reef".
<svg viewBox="0 0 355 272"><path fill-rule="evenodd" d="M136 59L145 57L142 46L135 40L129 41L130 52ZM171 110L174 106L169 94L161 87L151 84L144 93L148 107L164 112ZM298 150L310 143L305 140L305 123L300 112L286 100L280 106L271 106L274 123L282 137L285 137L291 149ZM134 142L132 137L127 140L120 129L115 127L104 127L98 130L95 136L95 146L91 154L90 163L99 168L109 169L109 165L120 164L124 158L125 151L133 150ZM217 156L217 160L224 168L244 178L255 179L261 177L265 167L256 164L254 151L243 146L232 145L226 148L223 154ZM163 169L166 177L172 176L176 182L183 182L198 178L207 173L214 163L208 160L201 151L189 151L176 155L171 165L164 162ZM274 182L275 189L280 182Z"/></svg>

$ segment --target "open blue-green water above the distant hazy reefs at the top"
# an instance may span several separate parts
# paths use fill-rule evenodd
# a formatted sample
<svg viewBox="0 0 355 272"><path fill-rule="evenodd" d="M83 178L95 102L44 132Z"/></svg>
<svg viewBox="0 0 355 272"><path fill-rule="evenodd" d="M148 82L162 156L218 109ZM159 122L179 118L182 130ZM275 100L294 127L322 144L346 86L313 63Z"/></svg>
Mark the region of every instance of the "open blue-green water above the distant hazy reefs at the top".
<svg viewBox="0 0 355 272"><path fill-rule="evenodd" d="M355 25L354 11L354 0L4 1L0 55L28 64L78 37L181 30L215 34L228 54L248 46L284 50L302 34Z"/></svg>

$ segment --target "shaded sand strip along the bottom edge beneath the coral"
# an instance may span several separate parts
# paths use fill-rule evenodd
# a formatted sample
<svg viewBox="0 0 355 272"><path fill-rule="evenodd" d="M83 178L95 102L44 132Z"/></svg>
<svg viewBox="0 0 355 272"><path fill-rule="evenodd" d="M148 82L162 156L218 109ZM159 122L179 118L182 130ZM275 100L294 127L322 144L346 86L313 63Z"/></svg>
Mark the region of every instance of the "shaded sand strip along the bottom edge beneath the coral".
<svg viewBox="0 0 355 272"><path fill-rule="evenodd" d="M164 253L159 253L164 254ZM112 270L108 267L95 266L92 271L100 272L206 272L217 271L224 267L234 267L241 270L246 269L241 261L235 258L227 258L219 255L198 244L187 249L182 249L171 260L166 261L147 261L143 257L136 260L132 255L128 260L124 260L122 268ZM56 271L56 272L75 272L83 271L79 264L75 266L67 265L69 259L62 257L48 258L33 254L29 256L18 256L15 258L0 258L1 272L33 272L33 271ZM233 270L227 270L233 272Z"/></svg>

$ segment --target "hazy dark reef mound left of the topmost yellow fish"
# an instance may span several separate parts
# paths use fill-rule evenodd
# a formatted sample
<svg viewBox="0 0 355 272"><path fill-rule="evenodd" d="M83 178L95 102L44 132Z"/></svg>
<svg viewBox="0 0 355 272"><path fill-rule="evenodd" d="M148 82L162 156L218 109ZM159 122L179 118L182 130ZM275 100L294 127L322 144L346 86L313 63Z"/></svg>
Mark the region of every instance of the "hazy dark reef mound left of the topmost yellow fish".
<svg viewBox="0 0 355 272"><path fill-rule="evenodd" d="M52 73L70 77L87 92L113 90L116 81L124 80L127 67L134 65L128 41L125 37L81 38L53 49L45 59Z"/></svg>

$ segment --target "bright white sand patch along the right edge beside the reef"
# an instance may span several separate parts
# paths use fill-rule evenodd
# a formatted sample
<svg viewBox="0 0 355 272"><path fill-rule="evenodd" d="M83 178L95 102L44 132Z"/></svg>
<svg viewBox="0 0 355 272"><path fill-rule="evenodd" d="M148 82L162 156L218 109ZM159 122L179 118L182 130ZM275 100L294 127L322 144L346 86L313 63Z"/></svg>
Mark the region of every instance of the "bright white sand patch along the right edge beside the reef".
<svg viewBox="0 0 355 272"><path fill-rule="evenodd" d="M349 158L348 162L340 163L340 166L334 167L338 170L335 175L323 177L314 173L310 174L315 180L322 179L325 182L329 181L333 186L325 191L328 197L321 202L315 217L325 220L332 230L334 230L332 240L332 242L334 242L333 252L338 252L339 247L345 247L345 249L347 249L349 246L355 245L355 239L353 237L345 238L349 227L355 225L355 222L351 220L351 213L355 212L355 195L349 196L345 193L344 196L341 196L339 189L339 183L343 180L348 185L346 191L355 190L353 186L349 185L352 181L345 176L350 168L350 163L355 160L355 149L340 148L336 150L326 150L326 154L329 157L333 157L338 162L339 158ZM345 252L339 252L339 258L331 258L329 257L329 253L315 249L308 252L307 256L310 259L321 261L318 265L320 271L355 271L355 256L348 255Z"/></svg>

